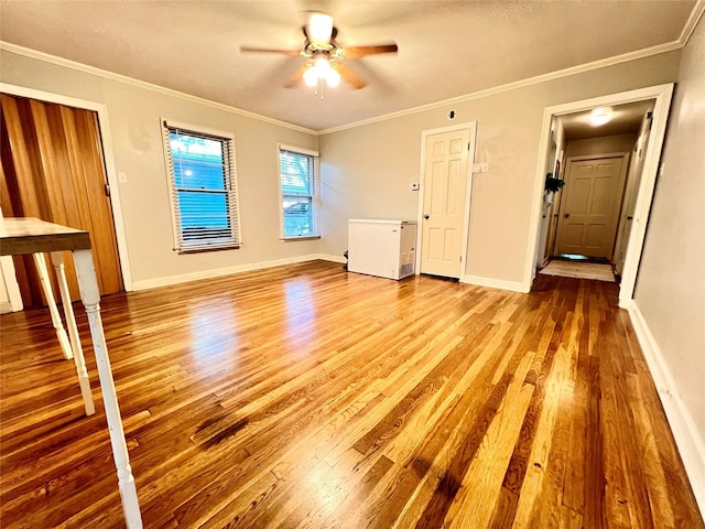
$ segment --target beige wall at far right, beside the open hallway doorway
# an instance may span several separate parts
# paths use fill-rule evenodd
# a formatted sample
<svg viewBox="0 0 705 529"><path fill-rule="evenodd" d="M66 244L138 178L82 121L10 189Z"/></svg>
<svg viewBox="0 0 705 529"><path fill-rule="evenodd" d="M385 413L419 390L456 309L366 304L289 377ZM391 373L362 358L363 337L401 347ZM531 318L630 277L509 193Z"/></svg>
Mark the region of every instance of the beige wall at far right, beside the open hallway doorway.
<svg viewBox="0 0 705 529"><path fill-rule="evenodd" d="M657 181L639 279L637 307L662 365L672 377L676 406L699 446L705 509L705 22L683 51ZM685 457L684 457L685 458ZM697 455L695 455L697 458ZM699 493L697 489L699 487Z"/></svg>

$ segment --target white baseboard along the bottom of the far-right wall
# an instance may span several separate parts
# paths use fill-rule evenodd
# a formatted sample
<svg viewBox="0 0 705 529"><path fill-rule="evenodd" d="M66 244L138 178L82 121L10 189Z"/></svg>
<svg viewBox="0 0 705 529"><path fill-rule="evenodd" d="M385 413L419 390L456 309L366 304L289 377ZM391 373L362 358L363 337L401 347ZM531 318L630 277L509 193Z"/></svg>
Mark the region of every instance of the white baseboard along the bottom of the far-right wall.
<svg viewBox="0 0 705 529"><path fill-rule="evenodd" d="M657 386L701 515L705 518L705 444L693 422L691 412L679 395L679 388L673 380L668 363L663 358L643 314L634 300L631 300L631 303L625 303L625 305L627 305L625 309L629 311L631 325L637 333L639 345L641 345L641 350L651 371L651 378Z"/></svg>

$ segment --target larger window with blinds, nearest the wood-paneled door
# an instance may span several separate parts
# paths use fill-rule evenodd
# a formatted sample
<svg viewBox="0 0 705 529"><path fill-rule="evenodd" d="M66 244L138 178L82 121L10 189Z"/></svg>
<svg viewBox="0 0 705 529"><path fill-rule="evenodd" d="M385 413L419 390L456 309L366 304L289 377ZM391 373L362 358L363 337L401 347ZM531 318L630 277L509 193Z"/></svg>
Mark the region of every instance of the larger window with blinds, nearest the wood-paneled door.
<svg viewBox="0 0 705 529"><path fill-rule="evenodd" d="M164 153L175 249L239 247L232 136L164 121Z"/></svg>

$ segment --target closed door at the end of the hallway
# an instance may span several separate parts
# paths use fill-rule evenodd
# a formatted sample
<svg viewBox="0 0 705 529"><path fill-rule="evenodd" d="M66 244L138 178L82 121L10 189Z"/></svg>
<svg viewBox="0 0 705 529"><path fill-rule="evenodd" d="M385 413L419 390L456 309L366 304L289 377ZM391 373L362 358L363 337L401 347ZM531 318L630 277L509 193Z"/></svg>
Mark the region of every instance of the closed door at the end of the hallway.
<svg viewBox="0 0 705 529"><path fill-rule="evenodd" d="M611 259L626 165L625 155L568 161L557 253Z"/></svg>

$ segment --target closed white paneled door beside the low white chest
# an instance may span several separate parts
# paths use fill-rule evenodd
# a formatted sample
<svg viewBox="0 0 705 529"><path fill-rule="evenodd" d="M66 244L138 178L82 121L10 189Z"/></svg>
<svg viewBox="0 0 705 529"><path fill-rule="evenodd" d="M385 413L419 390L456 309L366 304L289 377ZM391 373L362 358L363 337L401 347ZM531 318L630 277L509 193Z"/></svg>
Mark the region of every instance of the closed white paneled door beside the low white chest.
<svg viewBox="0 0 705 529"><path fill-rule="evenodd" d="M468 129L426 137L421 273L460 277L469 145Z"/></svg>

